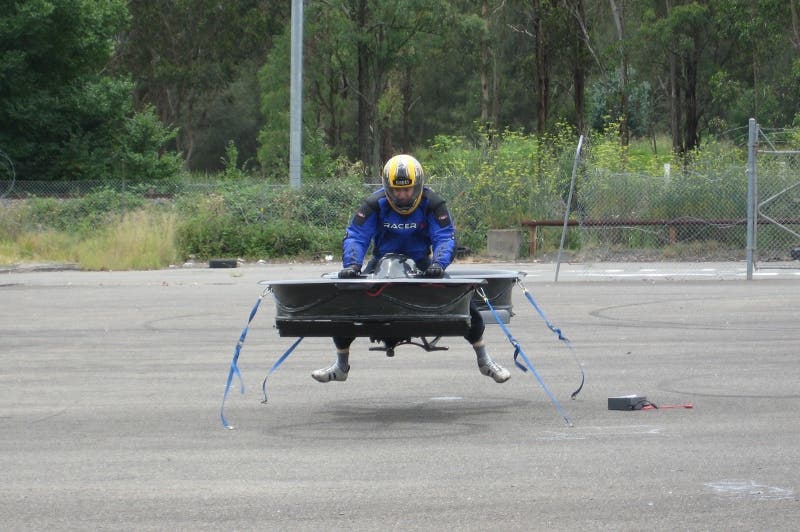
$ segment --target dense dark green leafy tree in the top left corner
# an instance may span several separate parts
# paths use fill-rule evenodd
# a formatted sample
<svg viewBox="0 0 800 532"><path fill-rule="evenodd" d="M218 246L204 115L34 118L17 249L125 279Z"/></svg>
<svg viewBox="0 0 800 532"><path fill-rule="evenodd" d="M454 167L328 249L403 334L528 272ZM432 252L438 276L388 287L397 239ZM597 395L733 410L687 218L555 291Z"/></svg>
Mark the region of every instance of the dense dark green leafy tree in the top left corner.
<svg viewBox="0 0 800 532"><path fill-rule="evenodd" d="M103 73L124 0L6 2L0 11L0 148L22 179L105 178L132 84Z"/></svg>

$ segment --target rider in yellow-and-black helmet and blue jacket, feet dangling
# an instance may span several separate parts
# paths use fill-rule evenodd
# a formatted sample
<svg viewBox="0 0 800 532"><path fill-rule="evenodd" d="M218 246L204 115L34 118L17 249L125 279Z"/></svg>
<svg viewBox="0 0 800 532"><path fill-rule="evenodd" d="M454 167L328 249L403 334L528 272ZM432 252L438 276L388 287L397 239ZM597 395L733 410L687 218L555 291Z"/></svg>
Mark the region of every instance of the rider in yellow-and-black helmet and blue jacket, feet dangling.
<svg viewBox="0 0 800 532"><path fill-rule="evenodd" d="M425 277L442 277L455 250L455 227L444 199L424 186L422 165L410 155L396 155L383 167L383 189L367 197L353 215L342 242L339 278L355 278L374 241L373 257L364 269L371 273L388 253L410 257ZM478 369L495 382L505 382L511 373L486 352L483 318L470 303L471 324L464 338L475 349ZM319 382L345 381L350 371L350 344L355 338L334 337L337 360L311 376Z"/></svg>

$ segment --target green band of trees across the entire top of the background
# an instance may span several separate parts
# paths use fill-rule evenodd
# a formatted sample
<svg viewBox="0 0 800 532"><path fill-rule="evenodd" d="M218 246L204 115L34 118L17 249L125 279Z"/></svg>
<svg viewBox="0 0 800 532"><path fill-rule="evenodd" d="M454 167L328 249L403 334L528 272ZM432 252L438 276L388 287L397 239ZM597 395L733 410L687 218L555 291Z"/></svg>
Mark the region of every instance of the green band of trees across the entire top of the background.
<svg viewBox="0 0 800 532"><path fill-rule="evenodd" d="M286 2L7 4L0 149L20 179L167 179L180 157L188 169L229 172L221 161L232 140L237 171L287 181ZM303 175L311 180L341 176L343 160L377 165L437 137L482 145L478 117L497 131L491 142L561 120L606 131L623 118L623 90L634 141L667 134L672 117L681 151L750 116L788 124L800 100L792 2L626 2L621 36L607 2L580 4L585 14L564 2L306 4Z"/></svg>

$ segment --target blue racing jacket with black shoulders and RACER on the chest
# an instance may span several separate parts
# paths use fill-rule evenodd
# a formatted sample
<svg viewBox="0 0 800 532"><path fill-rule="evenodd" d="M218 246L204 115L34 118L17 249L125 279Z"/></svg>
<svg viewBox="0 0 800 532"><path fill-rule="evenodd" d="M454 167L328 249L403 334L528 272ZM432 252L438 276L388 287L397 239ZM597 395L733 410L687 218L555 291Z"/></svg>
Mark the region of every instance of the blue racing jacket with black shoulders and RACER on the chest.
<svg viewBox="0 0 800 532"><path fill-rule="evenodd" d="M408 215L392 209L383 189L369 196L345 231L343 266L361 267L373 240L375 259L387 253L402 253L422 270L433 262L447 268L456 247L455 227L445 201L428 187L422 190L419 206Z"/></svg>

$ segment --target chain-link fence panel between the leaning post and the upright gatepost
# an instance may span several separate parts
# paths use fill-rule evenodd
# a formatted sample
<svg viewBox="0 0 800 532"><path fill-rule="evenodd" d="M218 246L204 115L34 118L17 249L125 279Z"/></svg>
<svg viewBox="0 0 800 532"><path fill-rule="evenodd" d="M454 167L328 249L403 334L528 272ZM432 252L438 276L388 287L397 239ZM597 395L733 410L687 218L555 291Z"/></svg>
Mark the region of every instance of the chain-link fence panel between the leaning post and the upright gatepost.
<svg viewBox="0 0 800 532"><path fill-rule="evenodd" d="M580 258L716 261L745 258L744 165L662 175L593 169L576 186Z"/></svg>

